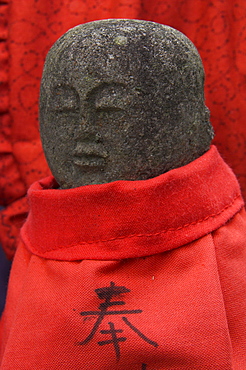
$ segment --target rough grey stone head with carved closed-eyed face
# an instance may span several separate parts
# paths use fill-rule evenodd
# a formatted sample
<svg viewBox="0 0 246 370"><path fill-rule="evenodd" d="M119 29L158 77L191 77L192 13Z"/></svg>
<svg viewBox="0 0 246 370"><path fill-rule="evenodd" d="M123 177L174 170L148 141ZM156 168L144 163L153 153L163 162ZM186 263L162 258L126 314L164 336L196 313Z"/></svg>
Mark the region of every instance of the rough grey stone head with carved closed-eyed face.
<svg viewBox="0 0 246 370"><path fill-rule="evenodd" d="M191 41L153 22L79 25L49 51L44 152L61 188L158 176L196 159L213 130Z"/></svg>

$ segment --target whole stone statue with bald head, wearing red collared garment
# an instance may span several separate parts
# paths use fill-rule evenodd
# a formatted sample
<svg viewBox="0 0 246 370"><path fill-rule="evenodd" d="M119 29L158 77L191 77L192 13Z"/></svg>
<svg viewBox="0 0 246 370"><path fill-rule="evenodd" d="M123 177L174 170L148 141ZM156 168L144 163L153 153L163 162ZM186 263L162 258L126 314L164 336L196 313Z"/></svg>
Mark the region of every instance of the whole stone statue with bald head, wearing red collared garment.
<svg viewBox="0 0 246 370"><path fill-rule="evenodd" d="M88 23L52 47L54 176L28 192L1 369L246 369L246 213L203 79L193 44L151 22Z"/></svg>

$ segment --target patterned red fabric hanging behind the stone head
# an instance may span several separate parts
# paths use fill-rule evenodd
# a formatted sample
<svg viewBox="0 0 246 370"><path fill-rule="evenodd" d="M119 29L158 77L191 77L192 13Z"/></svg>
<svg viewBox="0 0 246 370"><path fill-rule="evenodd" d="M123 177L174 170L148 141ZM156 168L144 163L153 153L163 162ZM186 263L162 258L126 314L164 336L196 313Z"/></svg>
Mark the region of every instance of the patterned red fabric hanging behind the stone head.
<svg viewBox="0 0 246 370"><path fill-rule="evenodd" d="M38 132L44 58L69 28L103 18L170 25L197 46L219 151L246 195L246 3L244 0L0 0L0 235L9 257L26 217L25 194L47 174Z"/></svg>

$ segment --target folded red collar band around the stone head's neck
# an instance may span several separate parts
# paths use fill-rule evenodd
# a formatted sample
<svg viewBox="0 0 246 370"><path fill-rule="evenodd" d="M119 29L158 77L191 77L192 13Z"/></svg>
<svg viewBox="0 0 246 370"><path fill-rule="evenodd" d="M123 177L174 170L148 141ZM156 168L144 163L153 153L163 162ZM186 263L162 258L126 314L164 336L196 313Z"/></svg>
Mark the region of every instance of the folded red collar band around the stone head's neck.
<svg viewBox="0 0 246 370"><path fill-rule="evenodd" d="M145 181L29 189L21 235L27 248L58 260L115 260L180 247L225 224L243 206L237 180L211 149L184 167Z"/></svg>

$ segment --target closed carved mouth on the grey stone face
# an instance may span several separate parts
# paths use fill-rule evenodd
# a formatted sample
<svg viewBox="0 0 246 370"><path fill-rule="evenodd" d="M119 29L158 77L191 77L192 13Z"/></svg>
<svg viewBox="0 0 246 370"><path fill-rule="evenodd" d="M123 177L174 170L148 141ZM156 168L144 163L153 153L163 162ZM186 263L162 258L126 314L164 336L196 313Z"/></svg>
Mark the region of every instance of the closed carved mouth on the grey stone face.
<svg viewBox="0 0 246 370"><path fill-rule="evenodd" d="M94 143L78 143L73 156L73 163L84 168L102 168L106 165L108 152L103 146Z"/></svg>

